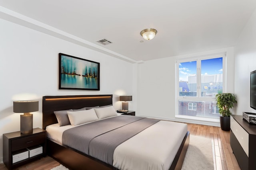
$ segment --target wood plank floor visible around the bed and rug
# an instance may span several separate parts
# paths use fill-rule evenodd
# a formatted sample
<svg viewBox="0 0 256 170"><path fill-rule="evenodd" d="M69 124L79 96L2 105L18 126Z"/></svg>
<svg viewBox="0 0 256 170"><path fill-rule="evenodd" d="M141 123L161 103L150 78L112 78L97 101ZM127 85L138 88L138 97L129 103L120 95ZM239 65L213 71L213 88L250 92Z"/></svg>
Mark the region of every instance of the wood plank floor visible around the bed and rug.
<svg viewBox="0 0 256 170"><path fill-rule="evenodd" d="M230 147L230 132L222 131L220 127L196 125L188 123L190 135L202 136L212 139L215 170L240 170L232 149ZM50 170L60 163L46 156L16 170ZM0 164L0 170L7 170Z"/></svg>

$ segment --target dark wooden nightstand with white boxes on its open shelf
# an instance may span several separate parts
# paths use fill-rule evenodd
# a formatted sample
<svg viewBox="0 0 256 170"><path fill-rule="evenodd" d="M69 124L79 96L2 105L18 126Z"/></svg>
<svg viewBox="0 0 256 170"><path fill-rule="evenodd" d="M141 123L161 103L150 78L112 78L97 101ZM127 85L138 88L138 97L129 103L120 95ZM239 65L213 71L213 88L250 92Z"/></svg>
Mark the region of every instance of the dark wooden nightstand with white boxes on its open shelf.
<svg viewBox="0 0 256 170"><path fill-rule="evenodd" d="M42 153L36 156L30 156L24 160L13 162L13 155L28 147L42 146ZM24 152L22 152L24 153ZM32 133L22 134L20 131L3 134L3 162L11 170L32 160L46 156L46 131L40 128L34 128Z"/></svg>

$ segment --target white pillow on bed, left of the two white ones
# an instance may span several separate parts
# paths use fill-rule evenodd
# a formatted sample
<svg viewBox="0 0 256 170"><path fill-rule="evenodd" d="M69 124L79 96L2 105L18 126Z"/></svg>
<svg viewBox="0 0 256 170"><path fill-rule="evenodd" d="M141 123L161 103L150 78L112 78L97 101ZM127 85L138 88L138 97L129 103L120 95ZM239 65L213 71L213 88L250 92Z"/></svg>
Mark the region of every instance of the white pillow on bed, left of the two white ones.
<svg viewBox="0 0 256 170"><path fill-rule="evenodd" d="M67 111L67 113L68 113L70 124L73 126L98 120L98 117L94 109L81 110L81 111Z"/></svg>

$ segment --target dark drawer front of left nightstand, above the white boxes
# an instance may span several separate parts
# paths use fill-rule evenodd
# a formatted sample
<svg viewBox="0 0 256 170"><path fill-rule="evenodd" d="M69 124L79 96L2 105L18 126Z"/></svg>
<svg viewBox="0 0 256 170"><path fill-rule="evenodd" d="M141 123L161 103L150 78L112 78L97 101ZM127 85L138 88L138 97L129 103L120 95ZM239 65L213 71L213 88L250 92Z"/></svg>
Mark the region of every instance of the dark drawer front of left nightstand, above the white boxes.
<svg viewBox="0 0 256 170"><path fill-rule="evenodd" d="M12 151L45 143L45 133L12 140Z"/></svg>

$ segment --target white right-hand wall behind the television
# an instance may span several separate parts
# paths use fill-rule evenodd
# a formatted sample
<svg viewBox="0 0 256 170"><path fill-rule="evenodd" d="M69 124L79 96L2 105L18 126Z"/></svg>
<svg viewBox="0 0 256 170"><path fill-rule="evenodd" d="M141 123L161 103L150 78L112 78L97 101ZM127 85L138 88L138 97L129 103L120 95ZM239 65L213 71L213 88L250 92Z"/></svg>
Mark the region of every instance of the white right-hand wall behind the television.
<svg viewBox="0 0 256 170"><path fill-rule="evenodd" d="M256 111L250 108L250 72L256 70L256 10L245 25L236 45L235 55L235 93L238 107L236 113Z"/></svg>

